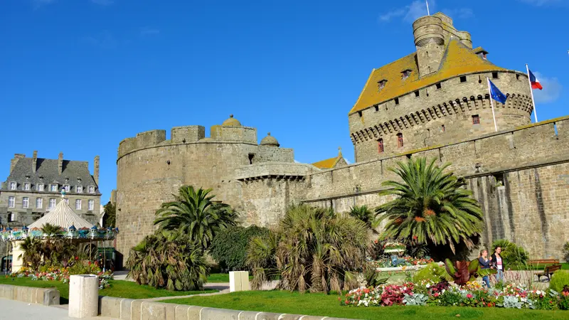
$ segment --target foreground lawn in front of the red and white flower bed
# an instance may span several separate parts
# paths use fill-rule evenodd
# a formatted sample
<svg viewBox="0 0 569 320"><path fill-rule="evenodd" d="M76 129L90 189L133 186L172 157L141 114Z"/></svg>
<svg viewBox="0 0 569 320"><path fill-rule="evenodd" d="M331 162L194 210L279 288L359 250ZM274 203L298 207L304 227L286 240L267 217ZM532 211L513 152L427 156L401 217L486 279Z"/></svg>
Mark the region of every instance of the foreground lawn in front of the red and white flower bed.
<svg viewBox="0 0 569 320"><path fill-rule="evenodd" d="M334 316L349 319L569 319L569 311L541 311L504 308L442 306L340 306L337 295L299 294L297 292L233 292L208 297L168 299L172 304L209 306L243 311Z"/></svg>

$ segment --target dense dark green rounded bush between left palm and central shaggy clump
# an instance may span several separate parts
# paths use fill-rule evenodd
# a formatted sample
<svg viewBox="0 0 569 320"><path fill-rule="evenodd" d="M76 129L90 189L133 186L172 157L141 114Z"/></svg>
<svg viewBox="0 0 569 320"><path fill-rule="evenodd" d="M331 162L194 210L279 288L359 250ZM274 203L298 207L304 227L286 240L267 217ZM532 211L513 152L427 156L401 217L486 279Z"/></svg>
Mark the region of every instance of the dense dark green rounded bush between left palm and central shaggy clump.
<svg viewBox="0 0 569 320"><path fill-rule="evenodd" d="M254 237L269 235L269 229L251 225L248 228L240 226L220 230L213 238L210 254L221 268L228 270L248 270L247 246Z"/></svg>

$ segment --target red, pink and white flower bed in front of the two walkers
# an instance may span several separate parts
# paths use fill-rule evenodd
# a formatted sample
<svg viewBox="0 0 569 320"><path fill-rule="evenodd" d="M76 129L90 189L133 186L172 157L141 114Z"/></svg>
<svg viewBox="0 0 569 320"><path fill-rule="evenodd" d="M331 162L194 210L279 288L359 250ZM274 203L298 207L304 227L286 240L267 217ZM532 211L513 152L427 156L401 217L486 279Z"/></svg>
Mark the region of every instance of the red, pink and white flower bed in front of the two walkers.
<svg viewBox="0 0 569 320"><path fill-rule="evenodd" d="M448 282L389 284L375 288L361 287L339 298L342 306L434 305L527 309L569 310L569 288L531 290L508 284L502 289L482 287L468 282L463 287Z"/></svg>

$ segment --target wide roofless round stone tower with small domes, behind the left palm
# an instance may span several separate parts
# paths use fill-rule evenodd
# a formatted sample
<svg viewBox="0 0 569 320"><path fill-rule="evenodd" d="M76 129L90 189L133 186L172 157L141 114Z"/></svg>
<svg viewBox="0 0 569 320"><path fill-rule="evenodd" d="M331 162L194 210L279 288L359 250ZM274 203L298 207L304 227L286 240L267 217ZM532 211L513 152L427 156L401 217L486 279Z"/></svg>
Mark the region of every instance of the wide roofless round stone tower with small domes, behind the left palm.
<svg viewBox="0 0 569 320"><path fill-rule="evenodd" d="M240 183L258 176L256 168L266 164L294 167L293 150L280 148L270 134L257 144L257 129L243 126L233 114L212 126L210 137L205 127L196 125L172 128L170 139L166 130L151 130L122 140L117 157L117 250L126 259L130 248L155 230L161 203L173 200L183 185L213 188L214 200L229 203L247 219L252 209L245 208Z"/></svg>

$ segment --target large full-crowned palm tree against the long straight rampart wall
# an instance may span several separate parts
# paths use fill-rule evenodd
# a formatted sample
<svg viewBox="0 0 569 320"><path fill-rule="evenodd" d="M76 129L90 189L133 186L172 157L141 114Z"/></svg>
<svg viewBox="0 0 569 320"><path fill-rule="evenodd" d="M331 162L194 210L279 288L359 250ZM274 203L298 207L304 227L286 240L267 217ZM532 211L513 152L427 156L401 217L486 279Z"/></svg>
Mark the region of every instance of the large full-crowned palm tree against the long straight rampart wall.
<svg viewBox="0 0 569 320"><path fill-rule="evenodd" d="M464 188L464 179L442 167L429 164L425 158L398 162L391 168L402 181L385 181L391 188L380 196L397 196L395 200L378 207L380 220L388 220L383 238L398 238L418 244L454 246L463 242L470 249L472 238L482 233L482 210L472 198L472 191Z"/></svg>

